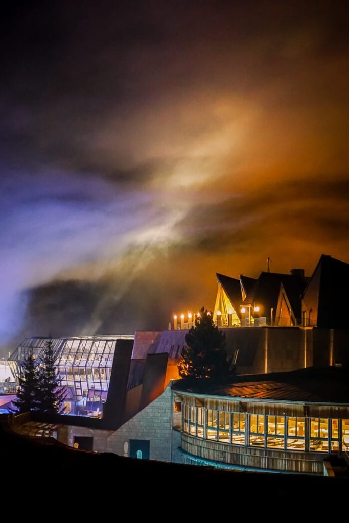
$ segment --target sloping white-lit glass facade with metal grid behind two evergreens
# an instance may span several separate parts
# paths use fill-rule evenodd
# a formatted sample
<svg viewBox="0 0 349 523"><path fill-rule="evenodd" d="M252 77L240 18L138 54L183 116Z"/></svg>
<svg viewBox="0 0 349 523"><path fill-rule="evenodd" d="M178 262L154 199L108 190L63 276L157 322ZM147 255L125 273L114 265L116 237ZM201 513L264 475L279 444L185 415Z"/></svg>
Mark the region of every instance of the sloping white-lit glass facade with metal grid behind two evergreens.
<svg viewBox="0 0 349 523"><path fill-rule="evenodd" d="M132 335L116 335L52 340L58 378L70 391L65 403L66 414L102 415L116 342L133 338ZM47 338L27 338L9 357L8 363L17 382L21 363L30 350L40 365L46 341Z"/></svg>

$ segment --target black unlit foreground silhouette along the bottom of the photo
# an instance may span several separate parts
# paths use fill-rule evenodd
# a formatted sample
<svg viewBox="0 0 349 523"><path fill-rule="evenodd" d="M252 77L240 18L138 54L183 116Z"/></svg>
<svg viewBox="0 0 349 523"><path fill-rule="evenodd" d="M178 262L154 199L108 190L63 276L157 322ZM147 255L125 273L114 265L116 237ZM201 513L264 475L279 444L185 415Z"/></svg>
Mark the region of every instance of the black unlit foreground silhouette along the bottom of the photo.
<svg viewBox="0 0 349 523"><path fill-rule="evenodd" d="M232 514L242 503L248 511L266 500L270 509L291 507L303 496L303 513L311 507L314 515L334 499L344 500L349 487L345 477L226 471L76 450L13 433L3 420L3 502L13 516L60 521L73 515L133 520L175 514L187 520L207 515L212 505Z"/></svg>

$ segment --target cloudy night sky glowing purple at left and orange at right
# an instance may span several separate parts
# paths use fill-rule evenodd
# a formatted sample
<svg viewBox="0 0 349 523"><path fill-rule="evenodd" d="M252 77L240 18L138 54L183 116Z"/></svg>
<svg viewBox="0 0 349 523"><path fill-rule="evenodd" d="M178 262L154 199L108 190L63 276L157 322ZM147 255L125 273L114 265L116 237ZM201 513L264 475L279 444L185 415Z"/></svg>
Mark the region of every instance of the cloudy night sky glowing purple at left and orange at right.
<svg viewBox="0 0 349 523"><path fill-rule="evenodd" d="M349 262L347 35L341 1L2 6L3 353Z"/></svg>

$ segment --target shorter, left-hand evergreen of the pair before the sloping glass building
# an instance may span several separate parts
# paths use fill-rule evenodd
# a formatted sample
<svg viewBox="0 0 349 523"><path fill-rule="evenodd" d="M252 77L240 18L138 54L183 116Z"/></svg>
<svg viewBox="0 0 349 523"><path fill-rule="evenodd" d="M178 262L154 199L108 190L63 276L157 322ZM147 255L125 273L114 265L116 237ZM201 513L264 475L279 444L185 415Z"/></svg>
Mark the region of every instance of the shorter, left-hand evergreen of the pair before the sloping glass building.
<svg viewBox="0 0 349 523"><path fill-rule="evenodd" d="M39 403L39 369L33 351L30 349L21 365L17 397L13 401L15 408L12 411L14 414L37 411Z"/></svg>

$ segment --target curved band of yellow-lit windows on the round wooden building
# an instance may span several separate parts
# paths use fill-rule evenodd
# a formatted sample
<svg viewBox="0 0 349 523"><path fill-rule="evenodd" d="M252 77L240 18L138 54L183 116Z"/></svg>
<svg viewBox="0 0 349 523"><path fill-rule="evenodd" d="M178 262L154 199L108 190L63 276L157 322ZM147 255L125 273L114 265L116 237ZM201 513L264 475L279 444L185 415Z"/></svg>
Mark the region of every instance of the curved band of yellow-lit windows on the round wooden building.
<svg viewBox="0 0 349 523"><path fill-rule="evenodd" d="M247 414L185 405L182 430L233 445L325 453L349 451L349 419Z"/></svg>

